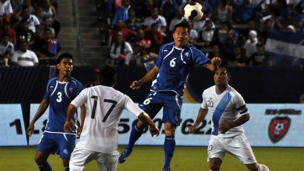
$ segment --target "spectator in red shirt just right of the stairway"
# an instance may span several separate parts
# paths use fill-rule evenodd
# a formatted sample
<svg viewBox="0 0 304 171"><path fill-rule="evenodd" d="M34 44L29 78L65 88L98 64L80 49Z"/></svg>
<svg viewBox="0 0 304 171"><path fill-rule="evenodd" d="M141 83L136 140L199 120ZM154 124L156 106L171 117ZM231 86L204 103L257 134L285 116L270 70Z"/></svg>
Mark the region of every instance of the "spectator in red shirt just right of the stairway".
<svg viewBox="0 0 304 171"><path fill-rule="evenodd" d="M124 41L134 35L134 32L132 30L123 28L123 21L121 19L117 19L115 28L111 29L109 33L109 47L111 47L112 44L116 41L116 35L119 32L123 34Z"/></svg>

